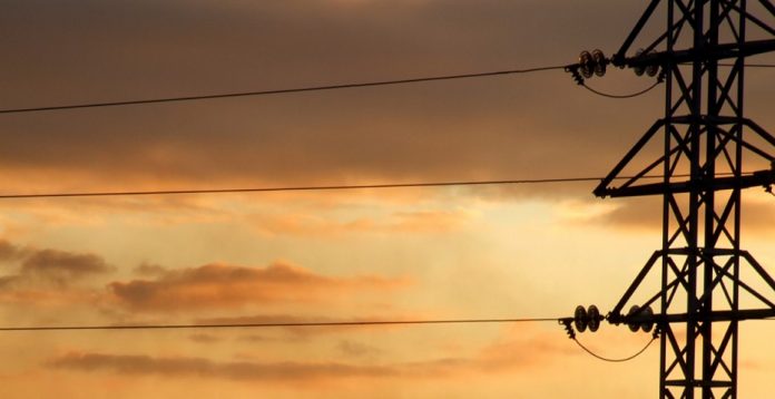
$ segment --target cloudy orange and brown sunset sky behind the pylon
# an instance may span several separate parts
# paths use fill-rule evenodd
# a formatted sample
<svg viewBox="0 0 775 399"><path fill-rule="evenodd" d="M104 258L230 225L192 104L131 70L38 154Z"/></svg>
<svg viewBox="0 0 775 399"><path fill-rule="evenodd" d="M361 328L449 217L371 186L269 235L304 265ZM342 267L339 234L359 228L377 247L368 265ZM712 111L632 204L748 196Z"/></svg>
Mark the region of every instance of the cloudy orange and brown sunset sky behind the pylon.
<svg viewBox="0 0 775 399"><path fill-rule="evenodd" d="M0 108L561 66L581 50L615 52L645 7L3 1ZM659 12L646 36L660 32ZM772 132L769 74L746 72L745 106ZM615 94L650 84L616 69L589 80ZM0 194L597 177L663 103L663 86L615 100L551 70L7 114ZM592 303L605 313L660 245L660 201L599 199L593 187L6 199L0 327L560 318ZM765 266L774 199L744 195L743 246ZM742 323L740 397L769 392L771 323ZM619 358L649 335L605 324L579 339ZM0 332L11 360L0 393L653 398L657 348L601 362L556 322Z"/></svg>

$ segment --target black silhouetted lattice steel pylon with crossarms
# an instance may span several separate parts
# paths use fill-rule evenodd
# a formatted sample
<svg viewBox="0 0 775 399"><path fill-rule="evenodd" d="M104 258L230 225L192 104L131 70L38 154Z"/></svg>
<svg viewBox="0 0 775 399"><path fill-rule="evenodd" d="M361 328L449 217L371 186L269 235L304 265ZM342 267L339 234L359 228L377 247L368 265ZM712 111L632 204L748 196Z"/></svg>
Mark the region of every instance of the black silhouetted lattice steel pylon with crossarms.
<svg viewBox="0 0 775 399"><path fill-rule="evenodd" d="M663 17L667 30L626 57ZM742 191L775 182L775 138L743 113L745 59L775 50L773 22L766 0L653 0L611 59L659 65L666 79L665 117L595 189L599 197L663 196L661 249L608 315L657 323L661 398L736 398L738 322L775 317L775 281L740 247ZM719 60L734 65L719 69ZM744 174L744 165L762 171ZM612 186L622 173L635 177ZM641 178L650 173L664 179ZM634 304L657 311L628 312Z"/></svg>

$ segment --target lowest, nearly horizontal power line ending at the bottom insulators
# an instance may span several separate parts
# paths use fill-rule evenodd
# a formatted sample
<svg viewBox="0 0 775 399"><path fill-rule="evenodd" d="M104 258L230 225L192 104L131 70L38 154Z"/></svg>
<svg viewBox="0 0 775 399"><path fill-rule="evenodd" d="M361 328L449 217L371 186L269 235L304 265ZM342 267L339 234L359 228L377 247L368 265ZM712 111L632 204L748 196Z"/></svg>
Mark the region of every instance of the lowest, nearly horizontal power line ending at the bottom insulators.
<svg viewBox="0 0 775 399"><path fill-rule="evenodd" d="M447 320L362 320L318 322L272 323L218 323L218 324L105 324L105 325L31 325L0 327L0 332L11 331L84 331L84 330L190 330L190 329L261 329L261 328L313 328L313 327L362 327L362 325L418 325L418 324L482 324L557 322L557 318L528 319L447 319Z"/></svg>

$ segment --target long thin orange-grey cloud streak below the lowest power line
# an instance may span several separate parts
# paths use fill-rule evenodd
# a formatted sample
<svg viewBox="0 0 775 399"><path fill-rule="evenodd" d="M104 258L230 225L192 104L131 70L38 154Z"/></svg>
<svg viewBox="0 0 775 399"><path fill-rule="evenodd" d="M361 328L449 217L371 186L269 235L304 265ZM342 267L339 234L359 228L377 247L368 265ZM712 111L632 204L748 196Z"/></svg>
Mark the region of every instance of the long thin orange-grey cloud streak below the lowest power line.
<svg viewBox="0 0 775 399"><path fill-rule="evenodd" d="M363 352L363 347L345 346ZM47 366L61 370L111 371L122 374L164 377L206 377L263 382L314 383L355 378L449 378L464 372L492 373L536 367L553 354L578 354L553 338L509 337L483 348L470 358L430 360L380 366L345 362L216 362L205 358L169 358L134 354L71 352L50 359Z"/></svg>

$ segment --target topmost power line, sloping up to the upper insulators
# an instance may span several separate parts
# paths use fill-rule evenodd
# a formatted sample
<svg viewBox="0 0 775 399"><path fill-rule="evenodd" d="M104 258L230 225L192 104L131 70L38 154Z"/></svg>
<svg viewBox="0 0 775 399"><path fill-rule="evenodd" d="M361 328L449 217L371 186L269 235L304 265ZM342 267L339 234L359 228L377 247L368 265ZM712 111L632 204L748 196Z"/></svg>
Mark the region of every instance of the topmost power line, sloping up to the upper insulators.
<svg viewBox="0 0 775 399"><path fill-rule="evenodd" d="M419 84L419 82L425 82L425 81L483 78L483 77L501 76L501 75L539 72L539 71L555 70L555 69L565 69L565 66L538 67L538 68L527 68L527 69L507 69L507 70L474 72L474 74L461 74L461 75L426 76L426 77L408 78L408 79L376 80L376 81L351 82L351 84L325 85L325 86L307 86L307 87L295 87L295 88L258 90L258 91L222 93L222 94L199 95L199 96L161 97L161 98L134 99L134 100L124 100L124 101L106 101L106 103L100 101L100 103L85 103L85 104L73 104L73 105L30 107L30 108L7 108L7 109L0 109L0 114L40 113L40 111L81 109L81 108L119 107L119 106L143 105L143 104L180 103L180 101L196 101L196 100L236 98L236 97L257 97L257 96L292 94L292 93L340 90L340 89L352 89L352 88L359 88L359 87L393 86L393 85Z"/></svg>

